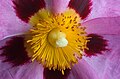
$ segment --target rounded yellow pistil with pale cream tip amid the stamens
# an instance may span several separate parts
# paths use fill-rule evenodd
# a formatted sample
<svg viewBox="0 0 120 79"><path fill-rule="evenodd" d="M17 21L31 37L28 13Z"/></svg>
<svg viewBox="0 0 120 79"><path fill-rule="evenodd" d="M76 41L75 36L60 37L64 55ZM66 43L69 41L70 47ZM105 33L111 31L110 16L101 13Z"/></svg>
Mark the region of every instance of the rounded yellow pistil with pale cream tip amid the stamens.
<svg viewBox="0 0 120 79"><path fill-rule="evenodd" d="M59 29L53 29L48 35L48 40L54 47L65 47L68 44L65 33Z"/></svg>

